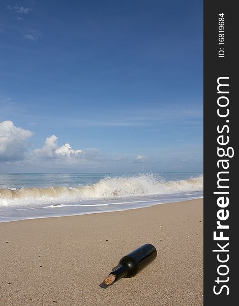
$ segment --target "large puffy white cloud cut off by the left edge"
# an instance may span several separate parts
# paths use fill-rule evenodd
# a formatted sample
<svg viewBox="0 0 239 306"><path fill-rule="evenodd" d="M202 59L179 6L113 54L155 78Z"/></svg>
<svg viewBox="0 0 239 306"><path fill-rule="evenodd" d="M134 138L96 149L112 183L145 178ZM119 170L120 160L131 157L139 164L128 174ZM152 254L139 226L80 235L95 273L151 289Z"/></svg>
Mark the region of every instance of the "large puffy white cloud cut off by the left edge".
<svg viewBox="0 0 239 306"><path fill-rule="evenodd" d="M16 127L10 120L0 122L0 161L23 160L27 139L33 134Z"/></svg>

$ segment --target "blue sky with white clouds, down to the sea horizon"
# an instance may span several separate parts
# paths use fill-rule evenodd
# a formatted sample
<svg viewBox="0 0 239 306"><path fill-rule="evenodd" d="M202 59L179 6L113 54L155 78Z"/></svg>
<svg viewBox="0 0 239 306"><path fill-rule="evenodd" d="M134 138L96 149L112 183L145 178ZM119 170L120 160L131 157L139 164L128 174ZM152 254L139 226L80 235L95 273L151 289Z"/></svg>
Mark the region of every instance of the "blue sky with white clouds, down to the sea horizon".
<svg viewBox="0 0 239 306"><path fill-rule="evenodd" d="M0 14L1 172L202 171L202 1Z"/></svg>

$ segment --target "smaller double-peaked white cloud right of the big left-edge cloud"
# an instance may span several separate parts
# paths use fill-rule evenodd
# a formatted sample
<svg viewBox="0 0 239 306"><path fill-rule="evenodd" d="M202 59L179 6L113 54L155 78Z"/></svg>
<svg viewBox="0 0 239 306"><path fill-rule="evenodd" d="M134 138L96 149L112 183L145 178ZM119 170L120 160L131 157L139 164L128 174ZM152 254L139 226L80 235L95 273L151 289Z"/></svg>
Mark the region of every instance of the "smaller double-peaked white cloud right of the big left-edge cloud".
<svg viewBox="0 0 239 306"><path fill-rule="evenodd" d="M51 158L51 159L59 159L65 158L68 159L68 163L70 160L78 157L79 154L82 153L82 150L73 150L69 143L59 147L58 146L58 138L55 135L48 137L45 141L44 146L41 149L35 149L33 152L33 156L37 158Z"/></svg>

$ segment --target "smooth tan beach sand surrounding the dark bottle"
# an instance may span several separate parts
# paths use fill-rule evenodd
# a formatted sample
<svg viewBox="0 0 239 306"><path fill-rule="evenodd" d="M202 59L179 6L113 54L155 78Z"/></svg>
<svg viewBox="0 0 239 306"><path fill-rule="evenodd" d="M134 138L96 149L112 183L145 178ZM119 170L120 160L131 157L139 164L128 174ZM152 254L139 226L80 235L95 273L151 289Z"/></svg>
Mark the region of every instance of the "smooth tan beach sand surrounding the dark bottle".
<svg viewBox="0 0 239 306"><path fill-rule="evenodd" d="M8 242L9 241L9 242ZM144 243L156 260L101 284ZM203 305L203 200L0 223L0 305Z"/></svg>

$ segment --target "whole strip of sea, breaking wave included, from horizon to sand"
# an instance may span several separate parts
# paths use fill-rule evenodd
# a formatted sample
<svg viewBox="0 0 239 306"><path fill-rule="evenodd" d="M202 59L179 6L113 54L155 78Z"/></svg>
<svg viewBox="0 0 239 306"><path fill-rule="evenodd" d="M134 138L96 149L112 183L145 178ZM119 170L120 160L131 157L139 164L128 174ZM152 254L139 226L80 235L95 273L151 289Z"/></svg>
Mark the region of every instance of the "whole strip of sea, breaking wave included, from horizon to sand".
<svg viewBox="0 0 239 306"><path fill-rule="evenodd" d="M203 197L203 173L0 174L0 222L128 210Z"/></svg>

